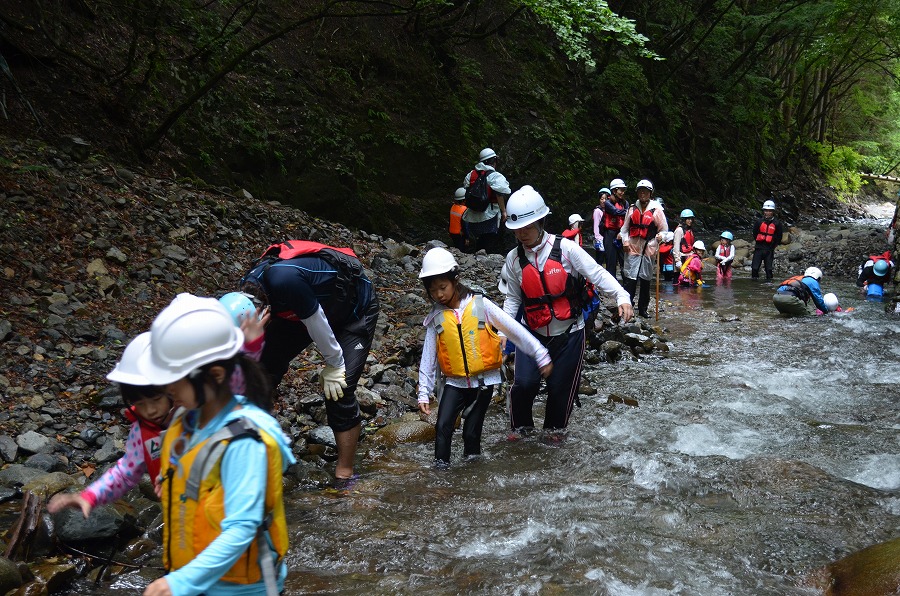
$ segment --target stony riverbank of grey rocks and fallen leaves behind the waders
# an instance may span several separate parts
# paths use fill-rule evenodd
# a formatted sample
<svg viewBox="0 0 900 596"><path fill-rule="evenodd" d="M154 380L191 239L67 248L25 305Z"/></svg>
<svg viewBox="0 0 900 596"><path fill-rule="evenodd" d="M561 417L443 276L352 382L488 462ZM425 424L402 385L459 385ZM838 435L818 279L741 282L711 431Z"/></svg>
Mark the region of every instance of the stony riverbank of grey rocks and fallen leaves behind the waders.
<svg viewBox="0 0 900 596"><path fill-rule="evenodd" d="M311 239L351 246L360 255L382 303L358 393L363 443L390 448L433 438L431 421L413 412L428 309L416 274L421 255L435 243L351 231L244 191L131 171L91 154L77 139L59 148L3 139L0 213L0 502L11 525L8 558L0 558L0 593L53 592L76 575L102 573L111 548L117 560L152 557L161 519L147 486L127 503L96 509L88 521L75 512L51 519L40 513L40 502L90 482L123 454L128 424L116 388L104 377L129 339L178 292L232 291L273 241ZM866 255L885 249L881 232L851 224L792 227L785 236L777 275L811 264L826 276L855 275ZM713 238L706 240L709 246ZM752 246L740 239L736 245L738 267L749 265ZM499 302L501 257L458 258L464 280ZM713 275L711 264L709 271ZM665 329L645 320L617 325L603 308L587 362L608 366L667 351ZM292 486L325 487L331 480L333 435L323 426L315 382L320 366L309 350L279 388L276 415L301 462L289 474ZM585 385L582 391L594 390ZM23 495L37 500L23 502ZM22 523L13 524L20 512Z"/></svg>

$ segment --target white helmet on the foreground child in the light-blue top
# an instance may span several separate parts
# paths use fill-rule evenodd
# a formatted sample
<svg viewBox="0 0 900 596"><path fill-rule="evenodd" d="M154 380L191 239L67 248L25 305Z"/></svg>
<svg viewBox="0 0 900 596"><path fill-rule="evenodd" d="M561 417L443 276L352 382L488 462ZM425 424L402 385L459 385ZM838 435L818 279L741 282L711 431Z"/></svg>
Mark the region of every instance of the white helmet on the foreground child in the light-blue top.
<svg viewBox="0 0 900 596"><path fill-rule="evenodd" d="M215 298L179 294L150 326L150 346L138 368L154 385L167 385L201 366L231 358L244 333Z"/></svg>

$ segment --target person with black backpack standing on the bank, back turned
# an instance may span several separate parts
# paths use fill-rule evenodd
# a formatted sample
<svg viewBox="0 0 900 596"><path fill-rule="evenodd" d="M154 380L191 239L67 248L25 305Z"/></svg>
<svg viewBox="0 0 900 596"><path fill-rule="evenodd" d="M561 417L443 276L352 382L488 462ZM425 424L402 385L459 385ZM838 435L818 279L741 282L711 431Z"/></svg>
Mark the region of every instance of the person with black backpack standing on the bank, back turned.
<svg viewBox="0 0 900 596"><path fill-rule="evenodd" d="M512 192L506 176L497 171L497 153L485 147L478 154L478 163L463 179L463 187L470 193L481 195L487 201L481 208L478 201L466 199L463 221L469 226L469 233L475 237L475 250L502 252L502 226L506 220L506 198ZM471 189L470 189L471 187Z"/></svg>

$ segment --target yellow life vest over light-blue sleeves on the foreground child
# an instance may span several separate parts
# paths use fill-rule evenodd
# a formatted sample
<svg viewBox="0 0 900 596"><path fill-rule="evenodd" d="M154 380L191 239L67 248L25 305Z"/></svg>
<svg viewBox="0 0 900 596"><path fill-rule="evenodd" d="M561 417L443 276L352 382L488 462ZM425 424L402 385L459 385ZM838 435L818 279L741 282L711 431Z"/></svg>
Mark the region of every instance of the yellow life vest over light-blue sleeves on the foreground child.
<svg viewBox="0 0 900 596"><path fill-rule="evenodd" d="M278 442L249 418L241 417L194 445L173 464L172 449L177 447L183 433L182 415L169 426L163 441L163 563L166 569L174 571L184 567L219 536L225 519L222 456L231 441L252 439L262 441L266 446L265 517L256 540L221 579L236 584L253 584L260 580L267 584L274 582L277 563L269 565L272 550L280 562L288 549Z"/></svg>

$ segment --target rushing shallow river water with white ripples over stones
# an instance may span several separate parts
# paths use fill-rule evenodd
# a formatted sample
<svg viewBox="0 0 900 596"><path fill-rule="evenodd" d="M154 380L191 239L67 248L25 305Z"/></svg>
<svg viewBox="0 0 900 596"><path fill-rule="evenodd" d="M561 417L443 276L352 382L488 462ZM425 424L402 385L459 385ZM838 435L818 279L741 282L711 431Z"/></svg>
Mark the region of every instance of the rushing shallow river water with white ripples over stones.
<svg viewBox="0 0 900 596"><path fill-rule="evenodd" d="M814 594L804 574L897 536L900 321L784 319L735 279L662 296L667 357L586 369L567 440L432 469L368 451L349 495L294 492L287 594ZM616 393L638 407L607 403Z"/></svg>

